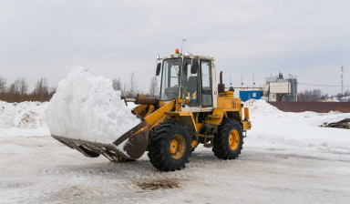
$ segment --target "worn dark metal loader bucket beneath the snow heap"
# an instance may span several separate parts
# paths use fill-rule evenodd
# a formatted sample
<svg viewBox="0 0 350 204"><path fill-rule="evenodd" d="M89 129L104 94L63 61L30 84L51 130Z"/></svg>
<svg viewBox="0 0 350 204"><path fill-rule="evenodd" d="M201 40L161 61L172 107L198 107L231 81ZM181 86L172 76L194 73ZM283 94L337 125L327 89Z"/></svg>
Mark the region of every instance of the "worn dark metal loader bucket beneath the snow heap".
<svg viewBox="0 0 350 204"><path fill-rule="evenodd" d="M97 158L99 155L103 155L109 160L117 161L121 158L137 159L143 155L147 148L149 128L146 121L143 120L139 125L131 128L110 144L65 138L64 136L52 135L52 137L67 145L69 148L77 149L89 158ZM126 143L123 143L124 141L126 141Z"/></svg>

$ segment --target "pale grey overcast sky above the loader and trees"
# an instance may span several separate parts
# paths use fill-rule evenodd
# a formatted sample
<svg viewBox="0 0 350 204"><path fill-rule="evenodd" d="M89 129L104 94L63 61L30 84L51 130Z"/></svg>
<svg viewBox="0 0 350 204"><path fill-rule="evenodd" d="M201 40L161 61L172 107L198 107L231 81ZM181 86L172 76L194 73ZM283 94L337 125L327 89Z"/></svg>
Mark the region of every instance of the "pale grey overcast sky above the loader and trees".
<svg viewBox="0 0 350 204"><path fill-rule="evenodd" d="M350 85L350 1L4 1L0 0L0 76L51 86L74 66L146 92L155 59L180 48L213 56L226 84L258 86L289 73L301 83ZM322 88L335 94L340 87ZM347 87L350 89L350 87Z"/></svg>

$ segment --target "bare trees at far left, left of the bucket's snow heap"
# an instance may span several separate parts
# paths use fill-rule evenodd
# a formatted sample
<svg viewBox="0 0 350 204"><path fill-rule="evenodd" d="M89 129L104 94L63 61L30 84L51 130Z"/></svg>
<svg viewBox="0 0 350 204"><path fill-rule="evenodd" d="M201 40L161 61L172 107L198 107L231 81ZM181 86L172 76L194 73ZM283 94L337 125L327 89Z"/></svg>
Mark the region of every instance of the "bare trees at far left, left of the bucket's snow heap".
<svg viewBox="0 0 350 204"><path fill-rule="evenodd" d="M25 78L17 78L8 84L7 80L0 76L0 100L9 103L23 101L48 101L56 92L56 87L48 87L47 80L42 77L36 81L36 87L29 91L29 85Z"/></svg>

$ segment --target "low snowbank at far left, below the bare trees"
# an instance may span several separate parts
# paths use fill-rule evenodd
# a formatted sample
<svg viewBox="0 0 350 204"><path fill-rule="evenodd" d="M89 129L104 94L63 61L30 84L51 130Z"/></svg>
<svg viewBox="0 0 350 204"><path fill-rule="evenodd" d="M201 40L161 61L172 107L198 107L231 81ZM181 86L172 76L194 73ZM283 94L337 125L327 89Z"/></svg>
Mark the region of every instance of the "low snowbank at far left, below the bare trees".
<svg viewBox="0 0 350 204"><path fill-rule="evenodd" d="M0 101L0 128L42 128L46 127L45 109L47 103Z"/></svg>

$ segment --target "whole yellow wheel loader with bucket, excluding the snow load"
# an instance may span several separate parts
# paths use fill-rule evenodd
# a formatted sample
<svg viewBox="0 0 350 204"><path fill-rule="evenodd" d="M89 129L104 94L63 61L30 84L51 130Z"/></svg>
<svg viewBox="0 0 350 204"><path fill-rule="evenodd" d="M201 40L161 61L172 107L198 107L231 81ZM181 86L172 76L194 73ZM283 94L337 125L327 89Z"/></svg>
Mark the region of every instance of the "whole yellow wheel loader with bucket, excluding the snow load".
<svg viewBox="0 0 350 204"><path fill-rule="evenodd" d="M123 98L139 105L131 111L141 119L110 144L55 136L63 144L90 158L103 155L111 161L140 158L148 151L150 163L161 171L180 170L191 152L203 144L221 159L234 159L251 128L249 110L233 88L216 83L214 58L175 54L157 57L161 76L160 97ZM122 149L122 150L120 150Z"/></svg>

